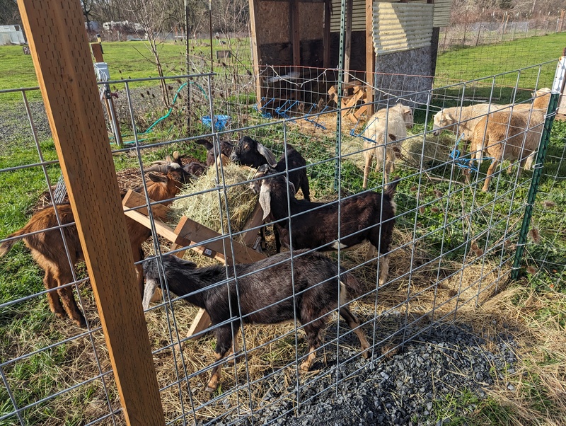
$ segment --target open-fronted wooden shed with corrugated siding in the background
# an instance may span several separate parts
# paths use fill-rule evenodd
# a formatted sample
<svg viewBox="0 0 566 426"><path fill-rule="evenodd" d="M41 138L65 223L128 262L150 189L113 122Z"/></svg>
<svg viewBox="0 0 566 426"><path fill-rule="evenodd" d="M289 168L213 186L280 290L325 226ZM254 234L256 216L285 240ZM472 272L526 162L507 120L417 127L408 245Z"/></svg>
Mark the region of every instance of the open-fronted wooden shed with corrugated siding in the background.
<svg viewBox="0 0 566 426"><path fill-rule="evenodd" d="M342 16L342 0L249 1L258 105L273 96L268 93L269 81L281 81L270 73L275 67L280 70L276 73L289 79L299 79L306 69L336 69L342 23L343 64L349 71L345 80L373 86L366 91L366 102L379 100L384 93L401 96L431 88L439 28L448 25L452 4L452 0L345 0ZM328 81L332 84L332 76ZM323 89L311 92L320 94ZM286 93L282 98L306 96L305 90Z"/></svg>

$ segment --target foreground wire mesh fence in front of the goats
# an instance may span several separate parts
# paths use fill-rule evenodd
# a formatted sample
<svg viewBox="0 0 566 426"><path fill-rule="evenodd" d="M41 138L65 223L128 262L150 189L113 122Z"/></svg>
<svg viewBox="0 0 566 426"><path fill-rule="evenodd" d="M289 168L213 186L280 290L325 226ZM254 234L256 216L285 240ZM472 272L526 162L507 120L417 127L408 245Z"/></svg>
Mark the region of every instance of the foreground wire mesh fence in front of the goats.
<svg viewBox="0 0 566 426"><path fill-rule="evenodd" d="M141 207L125 202L126 211L132 223L137 214L145 218L149 214L149 229L139 239L146 272L150 264L157 268L151 293L160 285L170 290L151 304L148 283L144 294L167 423L291 424L289 419L310 413L320 401L343 395L357 376L370 377L390 359L399 362L395 354L404 345L424 339L439 324L473 311L504 288L512 272L533 173L521 174L519 163L538 148L538 144L534 149L527 146L526 135L538 132L540 139L544 120L544 113L541 119L531 106L543 98L534 96L533 90L551 85L546 72L550 68L556 69L556 62L426 90L420 83L414 89L415 76L377 75L374 81L380 84L373 88L377 107L393 108L400 101L412 108L414 121L411 127L404 119L404 127L411 127L407 137L391 137L384 129L387 139L381 145L374 142L377 134L366 132L375 120L364 113L356 115L360 103L345 105L359 90L356 74L350 76L352 86L342 98L342 110L333 98L336 70L266 68L261 79L266 96L259 101L255 80L248 74L178 76L166 79L171 92L180 94L178 103L166 117L149 119L151 89L131 88L132 81L110 82L116 87L124 85L118 120L128 137L122 149L115 149L120 188L137 187L144 195ZM190 96L187 88L191 88ZM13 92L0 91L0 97L13 96ZM12 103L13 121L6 123L18 137L4 141L6 161L0 166L1 175L9 176L4 180L8 189L2 204L5 220L0 246L5 254L0 263L4 336L0 422L48 425L65 419L78 424L123 424L88 275L83 264L76 262L81 248L76 246L72 215L63 214L62 206L67 205L50 206L60 169L45 111L40 103L28 102L28 90L16 92L22 100ZM484 192L487 163L494 155L489 147L476 144L478 154L487 151L474 159L473 149L466 144L471 136L465 129L470 120L480 121L487 113L464 116L463 107L492 105L503 108L504 113L510 104L514 110L526 106L527 124L519 128L519 147L525 152L493 171ZM186 127L187 105L190 127ZM452 122L439 122L437 116L446 108L458 113ZM491 118L487 120L489 127ZM493 122L497 123L495 118ZM514 125L504 124L503 140L509 141ZM186 129L189 135L183 134ZM108 130L112 131L110 122ZM481 136L483 141L485 135ZM564 177L562 136L558 132L550 140L543 192L535 205L526 246L527 272L533 280L541 277L549 285L563 281L565 273L564 200L555 190ZM272 170L264 166L258 172L214 159L200 171L185 174L184 185L168 186L169 192L161 195L152 192L151 187L166 185L163 181L173 178L173 160L166 159L167 155L179 151L186 155L185 159L177 157L180 165L189 166L204 160L197 139L207 138L221 158L219 142L236 144L241 137L260 142L272 151L276 162L287 158L291 164L292 146L305 160L299 170L308 177L311 203L300 200L306 197L304 186L287 185L287 180L294 179L289 167ZM383 150L381 159L378 155L379 161L371 166L369 190L363 190L366 156L374 149ZM391 155L395 163L391 178L396 175L399 180L387 185L382 171ZM169 165L160 169L168 173L161 183L143 173L158 160ZM277 183L277 189L270 187ZM393 186L394 195L382 195L393 194ZM299 188L302 195L295 200ZM22 196L23 192L30 195ZM43 192L40 202L37 192ZM154 200L151 213L144 213L145 196ZM372 196L373 205L354 208ZM132 195L125 195L124 200L127 197ZM160 201L166 209L158 206ZM271 215L263 217L266 206ZM43 212L54 221L25 232L28 243L33 236L54 236L59 263L54 266L52 259L41 263L37 253L34 258L47 277L57 267L69 270L59 287L45 278L43 289L43 271L23 245L15 244L24 235L11 234L25 224L22 211L33 213L33 218ZM368 219L369 212L374 216ZM265 241L258 238L263 219ZM148 240L150 234L152 240ZM287 254L276 254L276 234ZM371 244L362 243L367 239ZM12 245L11 253L6 254ZM375 246L373 254L371 245ZM291 246L291 251L285 246ZM258 247L262 249L255 251ZM324 255L310 253L320 248L333 250ZM202 288L175 284L175 277L169 274L176 264L169 252L193 262L182 264L193 274L187 282L202 281ZM246 266L251 260L258 263ZM201 267L209 269L203 272ZM163 268L168 275L163 276ZM207 281L207 275L217 279ZM84 314L83 328L66 318L68 310L57 307L59 296L66 306L64 297L69 297L69 290ZM209 305L204 303L207 298ZM187 337L190 323L200 314L195 303L206 306L213 317L212 326L204 321L196 340ZM357 318L349 316L345 307ZM284 319L291 321L279 323ZM248 322L269 324L242 326ZM369 345L364 344L364 336ZM390 379L384 377L380 380L386 386ZM417 399L426 404L429 397L423 393Z"/></svg>

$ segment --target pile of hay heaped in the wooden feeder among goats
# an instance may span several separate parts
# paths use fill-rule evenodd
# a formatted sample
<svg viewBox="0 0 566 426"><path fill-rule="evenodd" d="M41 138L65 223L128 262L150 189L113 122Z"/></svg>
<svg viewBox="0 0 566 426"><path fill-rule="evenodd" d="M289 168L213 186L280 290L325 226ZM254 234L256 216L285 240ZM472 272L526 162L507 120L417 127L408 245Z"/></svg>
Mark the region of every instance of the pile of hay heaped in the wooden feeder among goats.
<svg viewBox="0 0 566 426"><path fill-rule="evenodd" d="M243 230L255 209L258 197L250 190L248 183L242 182L253 178L255 171L233 164L224 166L222 171L224 182L229 187L226 189L226 197L224 188L216 185L216 168L211 167L207 173L187 185L178 195L178 200L173 202L170 216L172 223L177 223L182 216L186 216L220 234L228 234L229 220L232 232ZM221 175L219 180L223 182ZM238 183L242 184L236 185ZM211 190L213 188L218 189Z"/></svg>

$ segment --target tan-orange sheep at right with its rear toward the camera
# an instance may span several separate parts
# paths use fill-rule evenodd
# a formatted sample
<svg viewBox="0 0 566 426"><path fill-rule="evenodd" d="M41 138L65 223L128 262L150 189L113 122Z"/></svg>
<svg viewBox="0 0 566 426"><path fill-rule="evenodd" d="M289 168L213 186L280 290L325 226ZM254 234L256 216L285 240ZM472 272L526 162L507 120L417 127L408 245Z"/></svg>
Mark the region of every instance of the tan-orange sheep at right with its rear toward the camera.
<svg viewBox="0 0 566 426"><path fill-rule="evenodd" d="M519 175L527 161L532 163L534 152L541 139L540 129L532 129L532 117L527 113L498 111L483 117L475 126L470 152L481 156L483 152L492 157L487 169L487 178L482 190L490 187L495 168L503 160L519 160Z"/></svg>

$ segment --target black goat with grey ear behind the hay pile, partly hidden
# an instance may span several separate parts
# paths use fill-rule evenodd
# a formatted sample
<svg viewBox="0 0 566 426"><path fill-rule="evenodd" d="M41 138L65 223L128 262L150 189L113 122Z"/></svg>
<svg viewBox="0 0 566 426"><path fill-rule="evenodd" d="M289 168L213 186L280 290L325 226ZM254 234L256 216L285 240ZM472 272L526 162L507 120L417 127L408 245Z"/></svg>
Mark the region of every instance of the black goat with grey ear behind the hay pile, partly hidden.
<svg viewBox="0 0 566 426"><path fill-rule="evenodd" d="M269 149L248 136L240 138L238 145L234 146L230 159L234 163L241 163L243 166L258 168L264 164L269 164L279 172L287 170L284 154L279 161L275 161L275 156ZM308 178L306 177L306 161L299 154L299 151L289 144L287 144L287 160L289 161L289 180L296 190L301 189L305 200L311 201L311 191L308 188ZM296 168L299 168L299 170L295 170Z"/></svg>

